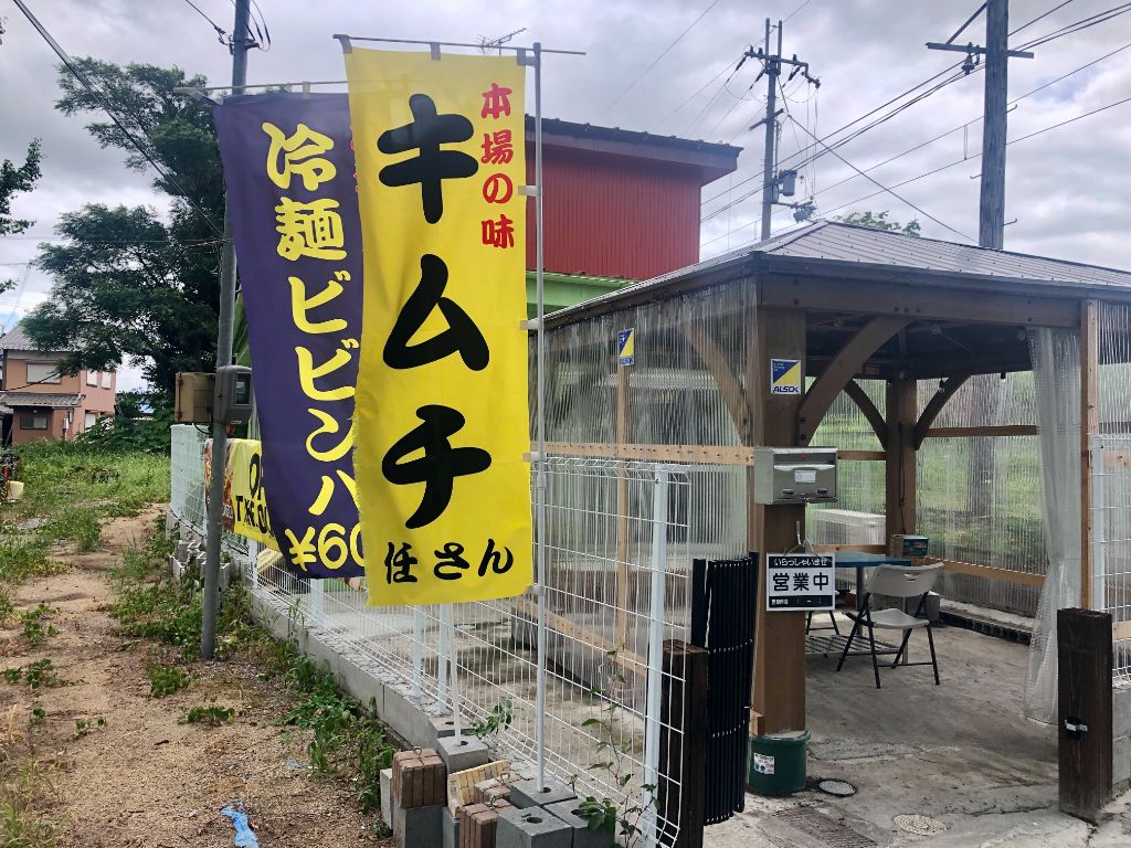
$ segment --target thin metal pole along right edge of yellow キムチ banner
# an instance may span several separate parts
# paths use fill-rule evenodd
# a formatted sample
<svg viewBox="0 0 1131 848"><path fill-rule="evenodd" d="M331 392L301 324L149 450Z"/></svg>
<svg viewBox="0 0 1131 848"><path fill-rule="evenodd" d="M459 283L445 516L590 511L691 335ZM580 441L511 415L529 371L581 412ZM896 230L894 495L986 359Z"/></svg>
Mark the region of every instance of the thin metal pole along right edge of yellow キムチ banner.
<svg viewBox="0 0 1131 848"><path fill-rule="evenodd" d="M543 360L545 357L545 279L544 279L544 257L542 225L542 43L534 42L534 182L538 193L534 198L535 224L537 235L535 237L535 289L537 292L538 330L537 330L537 356L536 356L536 380L537 380L537 441L538 441L538 465L536 486L536 509L535 521L537 525L537 550L535 563L537 566L537 579L535 586L538 592L538 669L537 669L537 767L538 776L536 788L541 793L546 782L546 404L545 404L545 379L543 374Z"/></svg>

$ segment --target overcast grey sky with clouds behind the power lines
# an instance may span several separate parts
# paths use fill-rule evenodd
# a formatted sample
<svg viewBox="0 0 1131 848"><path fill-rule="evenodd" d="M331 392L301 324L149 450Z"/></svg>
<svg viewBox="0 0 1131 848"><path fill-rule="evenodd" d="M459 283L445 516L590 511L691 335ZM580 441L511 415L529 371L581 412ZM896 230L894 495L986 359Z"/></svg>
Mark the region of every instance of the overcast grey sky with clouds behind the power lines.
<svg viewBox="0 0 1131 848"><path fill-rule="evenodd" d="M195 2L222 27L231 28L231 0ZM1010 28L1060 2L1012 0ZM27 5L71 55L176 64L189 73L205 73L217 85L230 79L227 50L185 0L27 0ZM1116 5L1115 0L1074 0L1018 33L1011 44ZM811 144L802 128L824 136L959 61L959 54L927 51L923 44L946 41L978 2L259 0L259 6L273 46L270 52L251 53L252 84L340 79L342 54L330 38L339 32L476 41L526 27L513 43L541 41L545 47L586 51L582 58L546 58L543 102L547 116L748 148L736 174L703 190L703 215L714 213L702 225L706 258L750 242L758 233L757 192L741 202L729 201L758 185L757 180L743 181L761 171L762 136L761 130L746 128L761 116L766 83L754 84L757 63L748 62L725 89L722 84L745 46L761 41L766 17L787 18L786 54L809 61L821 79L819 92L801 80L785 87L793 119L785 120L782 129L782 159L787 159ZM709 11L702 15L705 9ZM61 213L86 202L148 204L158 209L165 204L149 188L149 176L126 170L120 152L100 149L81 119L54 111L59 94L54 55L10 0L0 0L0 16L7 18L8 29L0 44L0 158L21 161L32 138L43 139L44 152L42 182L34 193L17 200L14 209L17 216L34 219L35 227L21 236L0 239L0 278L21 282L0 296L0 323L11 326L48 296L51 280L25 263L34 258L36 244L52 236ZM979 18L959 41L982 41L984 32L984 18ZM1011 60L1010 97L1128 44L1131 15L1042 45L1035 59ZM653 62L655 67L648 69ZM882 185L892 187L960 163L896 188L903 200L886 192L867 198L881 189L861 176L835 187L855 172L832 155L803 168L798 194L815 191L819 215L890 210L901 222L918 218L927 236L961 241L957 231L976 239L978 181L974 178L979 161L962 158L981 152L982 124L974 119L982 112L982 86L983 75L973 73L838 150L864 170L950 131L870 172ZM1131 49L1021 99L1009 115L1009 137L1019 138L1128 97ZM974 122L964 131L967 121ZM1131 268L1129 153L1131 103L1010 146L1005 219L1016 223L1005 230L1007 249ZM792 225L789 210L774 218L775 231ZM137 382L136 372L123 374L123 388Z"/></svg>

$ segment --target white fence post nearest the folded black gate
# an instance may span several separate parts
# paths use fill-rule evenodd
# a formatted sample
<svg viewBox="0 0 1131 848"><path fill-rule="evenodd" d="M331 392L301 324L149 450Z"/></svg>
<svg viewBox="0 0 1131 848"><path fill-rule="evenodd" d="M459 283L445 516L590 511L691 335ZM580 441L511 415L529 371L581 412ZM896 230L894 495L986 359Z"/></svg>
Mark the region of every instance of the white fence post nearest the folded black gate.
<svg viewBox="0 0 1131 848"><path fill-rule="evenodd" d="M657 793L659 786L661 708L664 692L664 606L667 578L667 468L656 469L651 502L651 603L648 614L648 691L645 713L644 782L646 790L645 845L654 848L657 840Z"/></svg>

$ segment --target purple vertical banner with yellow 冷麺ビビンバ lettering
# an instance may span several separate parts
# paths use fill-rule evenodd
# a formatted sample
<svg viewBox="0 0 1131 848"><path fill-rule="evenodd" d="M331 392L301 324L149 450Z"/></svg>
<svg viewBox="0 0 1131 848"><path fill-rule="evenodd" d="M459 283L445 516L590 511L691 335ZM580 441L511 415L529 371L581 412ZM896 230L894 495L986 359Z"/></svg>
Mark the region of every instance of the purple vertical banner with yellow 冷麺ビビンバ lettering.
<svg viewBox="0 0 1131 848"><path fill-rule="evenodd" d="M309 577L363 573L353 469L362 243L344 94L213 111L251 345L267 511Z"/></svg>

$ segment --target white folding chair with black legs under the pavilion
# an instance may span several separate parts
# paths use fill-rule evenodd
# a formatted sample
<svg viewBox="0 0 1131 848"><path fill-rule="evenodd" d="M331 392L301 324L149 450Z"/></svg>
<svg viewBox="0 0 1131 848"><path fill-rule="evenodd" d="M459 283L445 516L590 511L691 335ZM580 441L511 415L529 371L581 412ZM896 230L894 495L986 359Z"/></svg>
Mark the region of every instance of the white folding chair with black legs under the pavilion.
<svg viewBox="0 0 1131 848"><path fill-rule="evenodd" d="M918 616L923 614L923 608L926 606L926 596L934 586L934 581L939 579L939 573L942 571L942 563L935 563L934 565L924 565L922 568L906 568L903 565L877 565L875 570L872 572L872 579L867 582L867 591L864 595L864 602L858 613L849 612L848 617L853 620L852 632L848 634L848 641L845 642L844 652L840 655L840 661L837 663L837 670L839 672L845 664L846 657L872 657L872 670L875 673L875 687L880 689L880 663L877 659L882 655L896 655L895 661L891 667L895 668L899 665L899 658L903 657L904 651L907 650L907 640L910 639L912 631L918 628L926 629L926 640L931 646L931 661L930 663L906 663L909 666L931 666L934 668L934 684L939 685L939 660L934 654L934 634L931 631L931 622L926 618L920 618ZM891 598L918 598L920 603L915 609L915 615L908 615L903 609L877 609L872 611L872 596L883 595ZM856 634L860 633L861 628L867 628L867 639L870 644L870 650L866 651L849 651L852 648L853 640ZM899 643L899 650L881 650L875 649L875 629L881 630L901 630L904 632L903 641Z"/></svg>

